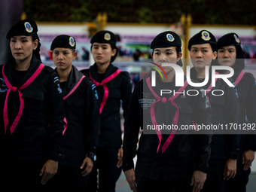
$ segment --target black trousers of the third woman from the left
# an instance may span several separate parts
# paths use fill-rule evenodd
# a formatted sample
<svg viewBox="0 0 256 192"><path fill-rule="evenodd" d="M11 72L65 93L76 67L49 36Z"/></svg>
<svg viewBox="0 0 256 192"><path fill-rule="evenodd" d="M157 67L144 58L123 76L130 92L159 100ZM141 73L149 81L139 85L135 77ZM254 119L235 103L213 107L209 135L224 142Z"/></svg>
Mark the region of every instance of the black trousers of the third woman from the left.
<svg viewBox="0 0 256 192"><path fill-rule="evenodd" d="M97 160L90 172L88 187L90 192L114 192L115 184L121 174L121 167L117 168L117 152L120 147L97 148ZM99 180L97 179L99 171ZM98 186L99 181L99 188Z"/></svg>

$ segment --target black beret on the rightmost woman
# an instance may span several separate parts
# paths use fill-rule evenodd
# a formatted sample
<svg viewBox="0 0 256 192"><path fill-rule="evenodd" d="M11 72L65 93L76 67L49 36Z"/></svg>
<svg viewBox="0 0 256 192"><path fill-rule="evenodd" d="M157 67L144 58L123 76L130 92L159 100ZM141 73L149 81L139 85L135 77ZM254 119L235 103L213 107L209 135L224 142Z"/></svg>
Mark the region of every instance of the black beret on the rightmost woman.
<svg viewBox="0 0 256 192"><path fill-rule="evenodd" d="M217 42L217 49L220 49L221 47L225 47L228 45L240 45L240 39L236 33L228 33L219 38Z"/></svg>

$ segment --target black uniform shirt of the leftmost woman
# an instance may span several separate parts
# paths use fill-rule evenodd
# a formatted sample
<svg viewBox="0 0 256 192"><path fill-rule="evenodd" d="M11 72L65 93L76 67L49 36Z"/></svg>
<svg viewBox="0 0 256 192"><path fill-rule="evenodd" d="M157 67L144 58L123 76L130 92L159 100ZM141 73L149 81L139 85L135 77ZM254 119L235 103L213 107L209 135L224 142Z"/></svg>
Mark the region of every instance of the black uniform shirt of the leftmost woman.
<svg viewBox="0 0 256 192"><path fill-rule="evenodd" d="M5 65L5 76L14 86L14 62ZM32 57L31 65L17 86L19 89L38 69L41 61ZM44 66L39 75L28 87L20 90L24 99L23 113L19 123L10 133L11 124L20 108L18 90L8 96L8 127L5 134L3 111L8 88L0 66L0 151L5 160L20 166L41 167L47 159L62 158L60 149L64 102L59 78L50 67ZM15 101L15 102L14 102Z"/></svg>

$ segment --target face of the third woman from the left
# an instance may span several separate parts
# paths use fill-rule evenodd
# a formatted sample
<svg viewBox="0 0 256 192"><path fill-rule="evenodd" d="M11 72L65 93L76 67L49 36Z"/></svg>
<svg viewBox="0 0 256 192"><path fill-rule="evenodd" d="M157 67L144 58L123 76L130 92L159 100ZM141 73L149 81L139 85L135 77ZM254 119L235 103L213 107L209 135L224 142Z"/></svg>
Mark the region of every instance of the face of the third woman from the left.
<svg viewBox="0 0 256 192"><path fill-rule="evenodd" d="M111 62L111 56L114 56L117 50L112 50L110 44L93 43L92 54L96 63L103 65Z"/></svg>

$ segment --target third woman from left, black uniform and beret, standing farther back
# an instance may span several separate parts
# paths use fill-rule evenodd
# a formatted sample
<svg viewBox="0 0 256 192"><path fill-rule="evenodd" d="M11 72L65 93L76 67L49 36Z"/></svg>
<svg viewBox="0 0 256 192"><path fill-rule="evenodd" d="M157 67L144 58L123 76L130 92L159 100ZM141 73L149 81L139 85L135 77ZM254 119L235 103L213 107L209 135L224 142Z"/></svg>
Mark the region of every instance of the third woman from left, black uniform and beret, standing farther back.
<svg viewBox="0 0 256 192"><path fill-rule="evenodd" d="M132 83L128 72L122 72L111 63L114 62L118 51L116 38L112 32L97 32L90 43L95 63L90 69L81 72L96 84L100 102L100 134L96 151L97 161L89 178L89 191L96 191L97 169L99 169L99 191L114 191L121 173L123 157L120 101L125 118L132 94Z"/></svg>

